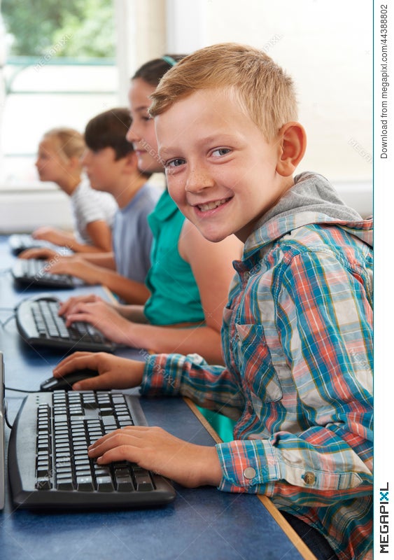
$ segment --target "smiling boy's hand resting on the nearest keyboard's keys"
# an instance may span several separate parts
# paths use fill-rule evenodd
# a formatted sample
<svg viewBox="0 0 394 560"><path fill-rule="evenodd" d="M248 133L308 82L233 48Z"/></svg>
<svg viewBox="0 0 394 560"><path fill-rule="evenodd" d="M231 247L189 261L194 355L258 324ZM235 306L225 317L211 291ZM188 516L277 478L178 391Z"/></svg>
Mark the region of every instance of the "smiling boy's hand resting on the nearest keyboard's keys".
<svg viewBox="0 0 394 560"><path fill-rule="evenodd" d="M89 456L97 463L131 461L183 486L218 486L222 470L216 447L180 440L162 428L127 426L90 445Z"/></svg>

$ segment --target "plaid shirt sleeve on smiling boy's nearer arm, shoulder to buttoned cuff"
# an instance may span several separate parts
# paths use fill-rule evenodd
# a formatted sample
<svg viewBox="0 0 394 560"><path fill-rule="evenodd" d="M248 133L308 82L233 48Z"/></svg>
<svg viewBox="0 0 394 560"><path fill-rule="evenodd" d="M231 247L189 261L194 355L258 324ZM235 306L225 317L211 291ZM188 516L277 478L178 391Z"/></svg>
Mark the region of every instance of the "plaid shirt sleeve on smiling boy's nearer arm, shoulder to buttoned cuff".
<svg viewBox="0 0 394 560"><path fill-rule="evenodd" d="M364 283L329 253L305 253L283 265L273 289L276 328L304 426L290 433L272 418L280 428L268 439L218 444L220 489L288 496L300 506L367 496L372 309Z"/></svg>

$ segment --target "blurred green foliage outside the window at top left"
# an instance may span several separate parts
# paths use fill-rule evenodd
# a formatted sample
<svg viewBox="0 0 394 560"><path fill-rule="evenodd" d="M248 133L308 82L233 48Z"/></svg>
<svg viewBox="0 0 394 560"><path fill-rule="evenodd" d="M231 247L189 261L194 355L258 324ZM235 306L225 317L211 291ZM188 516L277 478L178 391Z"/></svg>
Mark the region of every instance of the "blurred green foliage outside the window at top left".
<svg viewBox="0 0 394 560"><path fill-rule="evenodd" d="M114 57L113 0L1 0L10 55Z"/></svg>

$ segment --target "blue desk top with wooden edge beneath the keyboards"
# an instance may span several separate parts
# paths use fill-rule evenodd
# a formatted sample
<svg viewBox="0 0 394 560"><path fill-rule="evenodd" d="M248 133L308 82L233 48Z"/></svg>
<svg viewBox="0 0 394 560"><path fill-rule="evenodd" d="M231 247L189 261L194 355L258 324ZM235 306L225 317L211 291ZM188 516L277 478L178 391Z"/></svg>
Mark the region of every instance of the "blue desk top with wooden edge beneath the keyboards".
<svg viewBox="0 0 394 560"><path fill-rule="evenodd" d="M0 268L12 264L6 239L0 237ZM92 291L92 287L78 288ZM105 295L101 288L94 288ZM75 290L74 290L75 292ZM30 292L29 292L30 293ZM68 297L69 291L59 297ZM0 276L0 307L13 307L27 293L13 287L8 273ZM7 316L1 311L1 321ZM62 358L56 351L31 349L11 319L0 329L0 349L6 386L35 390L50 377ZM141 359L132 349L123 356ZM22 400L6 391L12 422ZM193 405L181 398L141 398L150 425L162 426L178 437L202 445L214 444ZM209 428L208 428L209 429ZM9 430L6 428L6 440ZM212 487L185 489L176 485L171 505L146 510L108 512L29 512L15 510L6 495L0 512L0 557L8 559L71 560L307 560L314 559L304 543L267 498L223 493Z"/></svg>

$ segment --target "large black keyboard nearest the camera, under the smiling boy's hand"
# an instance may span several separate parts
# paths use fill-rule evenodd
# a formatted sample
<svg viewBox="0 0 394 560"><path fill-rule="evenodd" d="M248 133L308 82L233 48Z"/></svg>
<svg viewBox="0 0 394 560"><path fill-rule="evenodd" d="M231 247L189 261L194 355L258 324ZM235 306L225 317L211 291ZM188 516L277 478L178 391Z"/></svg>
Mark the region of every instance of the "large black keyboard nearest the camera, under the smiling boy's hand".
<svg viewBox="0 0 394 560"><path fill-rule="evenodd" d="M174 500L159 475L121 461L97 465L87 446L125 426L146 426L138 397L54 391L24 398L8 445L8 477L20 507L145 507Z"/></svg>

